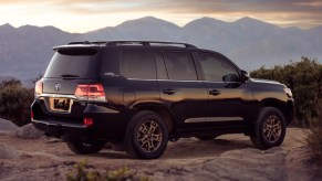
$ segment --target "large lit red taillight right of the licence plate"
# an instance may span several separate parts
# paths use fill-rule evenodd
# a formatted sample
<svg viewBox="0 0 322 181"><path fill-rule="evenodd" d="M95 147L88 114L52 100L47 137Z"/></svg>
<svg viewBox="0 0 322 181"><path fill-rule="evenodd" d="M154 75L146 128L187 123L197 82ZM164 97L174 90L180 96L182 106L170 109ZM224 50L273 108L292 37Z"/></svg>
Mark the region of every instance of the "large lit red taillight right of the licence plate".
<svg viewBox="0 0 322 181"><path fill-rule="evenodd" d="M106 102L102 84L77 85L75 96L80 100Z"/></svg>

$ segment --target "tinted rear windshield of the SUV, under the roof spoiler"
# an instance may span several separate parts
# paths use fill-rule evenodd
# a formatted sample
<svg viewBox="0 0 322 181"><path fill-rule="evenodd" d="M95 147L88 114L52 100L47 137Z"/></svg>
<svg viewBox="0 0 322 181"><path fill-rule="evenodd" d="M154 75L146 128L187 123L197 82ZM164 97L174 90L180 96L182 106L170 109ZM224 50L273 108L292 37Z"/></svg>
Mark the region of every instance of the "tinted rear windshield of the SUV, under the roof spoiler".
<svg viewBox="0 0 322 181"><path fill-rule="evenodd" d="M93 49L58 50L45 71L44 77L95 78L97 54L97 50Z"/></svg>

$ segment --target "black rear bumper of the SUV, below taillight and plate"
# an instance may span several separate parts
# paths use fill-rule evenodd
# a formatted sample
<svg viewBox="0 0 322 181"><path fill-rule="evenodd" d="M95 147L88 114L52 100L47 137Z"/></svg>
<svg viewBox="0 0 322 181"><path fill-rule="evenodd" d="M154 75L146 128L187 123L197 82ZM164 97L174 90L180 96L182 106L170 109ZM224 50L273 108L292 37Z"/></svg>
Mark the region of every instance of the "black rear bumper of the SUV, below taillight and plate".
<svg viewBox="0 0 322 181"><path fill-rule="evenodd" d="M52 113L48 110L42 99L35 99L31 106L32 124L48 135L64 139L113 142L123 140L132 113L98 104L74 104L74 106L71 114ZM92 118L93 125L84 126L84 118Z"/></svg>

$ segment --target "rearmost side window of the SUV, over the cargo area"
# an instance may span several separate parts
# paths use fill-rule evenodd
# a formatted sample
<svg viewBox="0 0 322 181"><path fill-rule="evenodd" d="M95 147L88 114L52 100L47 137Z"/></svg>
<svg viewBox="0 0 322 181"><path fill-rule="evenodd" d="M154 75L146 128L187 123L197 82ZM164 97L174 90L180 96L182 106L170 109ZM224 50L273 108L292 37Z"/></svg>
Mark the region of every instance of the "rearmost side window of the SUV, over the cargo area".
<svg viewBox="0 0 322 181"><path fill-rule="evenodd" d="M156 79L155 56L153 52L123 51L122 75L127 78Z"/></svg>

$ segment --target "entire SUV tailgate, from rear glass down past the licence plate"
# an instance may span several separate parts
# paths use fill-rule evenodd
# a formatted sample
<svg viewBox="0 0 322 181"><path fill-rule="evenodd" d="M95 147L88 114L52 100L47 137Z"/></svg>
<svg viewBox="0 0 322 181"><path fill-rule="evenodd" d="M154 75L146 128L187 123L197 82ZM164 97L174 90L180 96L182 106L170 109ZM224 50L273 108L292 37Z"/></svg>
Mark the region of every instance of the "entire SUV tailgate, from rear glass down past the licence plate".
<svg viewBox="0 0 322 181"><path fill-rule="evenodd" d="M97 83L100 51L95 47L61 46L55 49L48 70L41 79L42 108L48 116L59 115L80 118L76 109L75 91L80 84Z"/></svg>

